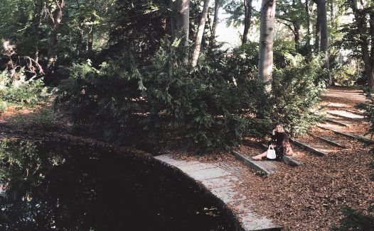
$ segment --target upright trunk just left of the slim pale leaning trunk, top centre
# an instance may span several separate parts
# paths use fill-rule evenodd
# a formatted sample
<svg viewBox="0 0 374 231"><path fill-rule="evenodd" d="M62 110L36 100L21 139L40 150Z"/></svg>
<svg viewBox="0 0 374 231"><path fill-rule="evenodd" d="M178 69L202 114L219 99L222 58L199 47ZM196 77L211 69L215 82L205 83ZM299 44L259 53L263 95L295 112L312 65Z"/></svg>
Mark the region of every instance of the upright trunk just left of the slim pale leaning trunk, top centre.
<svg viewBox="0 0 374 231"><path fill-rule="evenodd" d="M182 62L188 64L188 30L190 0L178 0L176 17L176 39L181 40Z"/></svg>

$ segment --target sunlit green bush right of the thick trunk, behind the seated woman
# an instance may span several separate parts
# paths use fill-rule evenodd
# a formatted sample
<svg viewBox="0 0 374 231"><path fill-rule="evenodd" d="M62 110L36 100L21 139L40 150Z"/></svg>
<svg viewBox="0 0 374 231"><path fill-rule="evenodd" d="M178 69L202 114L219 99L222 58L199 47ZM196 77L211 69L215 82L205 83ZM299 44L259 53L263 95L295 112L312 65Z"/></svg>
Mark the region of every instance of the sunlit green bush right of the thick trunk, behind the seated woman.
<svg viewBox="0 0 374 231"><path fill-rule="evenodd" d="M282 123L292 135L303 135L318 117L311 110L318 106L321 90L321 58L305 62L301 55L286 55L288 66L274 69L272 79L273 123Z"/></svg>

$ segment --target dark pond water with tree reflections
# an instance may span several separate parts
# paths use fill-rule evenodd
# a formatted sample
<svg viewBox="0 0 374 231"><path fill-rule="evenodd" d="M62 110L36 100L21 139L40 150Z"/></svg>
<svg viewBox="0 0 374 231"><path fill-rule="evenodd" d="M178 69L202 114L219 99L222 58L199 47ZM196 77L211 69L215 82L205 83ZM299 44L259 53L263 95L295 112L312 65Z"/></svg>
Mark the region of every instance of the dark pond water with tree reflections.
<svg viewBox="0 0 374 231"><path fill-rule="evenodd" d="M151 164L59 142L0 141L0 230L233 230Z"/></svg>

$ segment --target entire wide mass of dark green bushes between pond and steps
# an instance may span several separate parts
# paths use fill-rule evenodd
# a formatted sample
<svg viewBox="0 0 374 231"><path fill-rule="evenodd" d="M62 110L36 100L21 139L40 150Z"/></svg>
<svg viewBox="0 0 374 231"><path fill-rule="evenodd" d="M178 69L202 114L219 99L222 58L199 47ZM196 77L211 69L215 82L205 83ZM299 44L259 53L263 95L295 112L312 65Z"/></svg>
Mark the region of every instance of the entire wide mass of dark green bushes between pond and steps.
<svg viewBox="0 0 374 231"><path fill-rule="evenodd" d="M131 55L98 69L90 62L75 64L57 102L78 132L129 143L167 130L166 139L176 137L198 153L227 150L247 135L264 137L275 123L303 133L316 120L310 110L321 92L320 62L287 56L289 65L274 73L267 93L257 81L255 46L218 51L214 59L202 55L194 68L179 61L178 42L169 40L147 66L137 68ZM292 59L299 59L297 65Z"/></svg>

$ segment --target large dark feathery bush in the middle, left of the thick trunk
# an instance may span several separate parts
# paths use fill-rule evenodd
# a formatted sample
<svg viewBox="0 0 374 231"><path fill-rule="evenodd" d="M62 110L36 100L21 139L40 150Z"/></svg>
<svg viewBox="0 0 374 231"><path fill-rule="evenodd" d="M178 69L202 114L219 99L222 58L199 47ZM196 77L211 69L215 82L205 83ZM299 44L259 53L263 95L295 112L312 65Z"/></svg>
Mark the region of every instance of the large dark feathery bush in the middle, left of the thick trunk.
<svg viewBox="0 0 374 231"><path fill-rule="evenodd" d="M246 116L255 113L258 98L267 98L262 87L247 72L238 74L225 58L201 60L190 71L176 62L177 54L176 46L166 43L154 57L146 91L151 118L165 116L199 153L237 144L258 120Z"/></svg>

